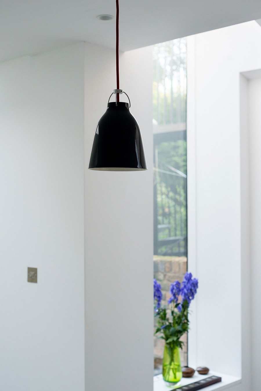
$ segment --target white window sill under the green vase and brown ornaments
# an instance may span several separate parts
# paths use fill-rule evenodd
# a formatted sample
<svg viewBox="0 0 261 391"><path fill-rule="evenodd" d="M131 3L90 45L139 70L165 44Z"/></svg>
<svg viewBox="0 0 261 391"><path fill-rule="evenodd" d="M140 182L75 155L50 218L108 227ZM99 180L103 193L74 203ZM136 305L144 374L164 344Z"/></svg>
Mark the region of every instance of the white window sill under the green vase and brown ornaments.
<svg viewBox="0 0 261 391"><path fill-rule="evenodd" d="M220 383L213 384L212 386L205 387L203 390L206 391L213 391L213 390L226 390L229 389L232 386L236 386L237 384L241 383L241 379L239 377L225 375L224 373L218 373L218 372L212 372L210 371L207 375L199 375L197 372L195 372L194 376L191 378L182 378L179 386L176 386L177 388L180 386L186 386L187 384L190 384L192 382L196 382L197 380L202 380L209 376L220 376L222 378L222 381ZM173 388L172 388L173 389ZM162 379L162 375L154 376L154 386L153 391L170 391L171 388L167 386L167 384Z"/></svg>

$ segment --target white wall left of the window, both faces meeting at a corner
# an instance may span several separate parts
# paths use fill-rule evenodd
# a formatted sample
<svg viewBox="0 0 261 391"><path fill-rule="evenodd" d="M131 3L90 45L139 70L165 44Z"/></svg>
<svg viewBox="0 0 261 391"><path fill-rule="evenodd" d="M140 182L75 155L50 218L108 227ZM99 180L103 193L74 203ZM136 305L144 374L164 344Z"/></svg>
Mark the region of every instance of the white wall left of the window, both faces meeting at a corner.
<svg viewBox="0 0 261 391"><path fill-rule="evenodd" d="M115 88L114 50L82 43L0 65L5 391L153 387L151 59L144 48L120 60L146 172L87 169Z"/></svg>

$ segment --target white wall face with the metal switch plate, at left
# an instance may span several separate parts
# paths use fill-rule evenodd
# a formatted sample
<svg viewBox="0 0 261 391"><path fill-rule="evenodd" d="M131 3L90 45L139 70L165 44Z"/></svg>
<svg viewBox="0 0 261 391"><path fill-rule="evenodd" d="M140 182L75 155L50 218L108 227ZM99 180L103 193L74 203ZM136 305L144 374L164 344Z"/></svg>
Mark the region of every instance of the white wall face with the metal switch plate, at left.
<svg viewBox="0 0 261 391"><path fill-rule="evenodd" d="M0 65L3 391L84 389L83 61L79 44Z"/></svg>

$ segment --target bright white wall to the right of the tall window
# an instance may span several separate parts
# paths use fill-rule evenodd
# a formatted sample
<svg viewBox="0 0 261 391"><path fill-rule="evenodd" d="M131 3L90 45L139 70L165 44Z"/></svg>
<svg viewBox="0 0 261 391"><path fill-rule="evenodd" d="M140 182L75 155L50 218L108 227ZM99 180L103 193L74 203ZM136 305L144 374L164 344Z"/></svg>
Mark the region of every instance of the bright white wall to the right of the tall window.
<svg viewBox="0 0 261 391"><path fill-rule="evenodd" d="M242 374L241 387L249 391L253 390L249 377L249 155L247 111L242 114L248 87L240 72L259 68L261 28L256 22L188 38L188 259L200 286L191 318L189 365ZM257 208L260 197L255 186L251 200ZM254 235L253 224L251 239L257 241L259 226L254 227ZM259 268L255 275L257 288ZM257 303L253 305L258 312ZM258 319L252 317L254 328ZM257 330L255 335L252 343L258 349Z"/></svg>

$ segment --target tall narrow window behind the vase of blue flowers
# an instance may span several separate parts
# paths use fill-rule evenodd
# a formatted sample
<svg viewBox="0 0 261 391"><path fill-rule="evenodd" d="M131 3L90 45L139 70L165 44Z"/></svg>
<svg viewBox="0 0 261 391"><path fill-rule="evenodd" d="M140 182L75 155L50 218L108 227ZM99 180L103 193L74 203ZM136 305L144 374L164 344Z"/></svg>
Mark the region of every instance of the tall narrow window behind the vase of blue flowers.
<svg viewBox="0 0 261 391"><path fill-rule="evenodd" d="M163 304L169 285L187 271L186 38L153 48L154 278ZM164 340L154 337L155 375L161 373ZM187 335L181 353L187 365Z"/></svg>

